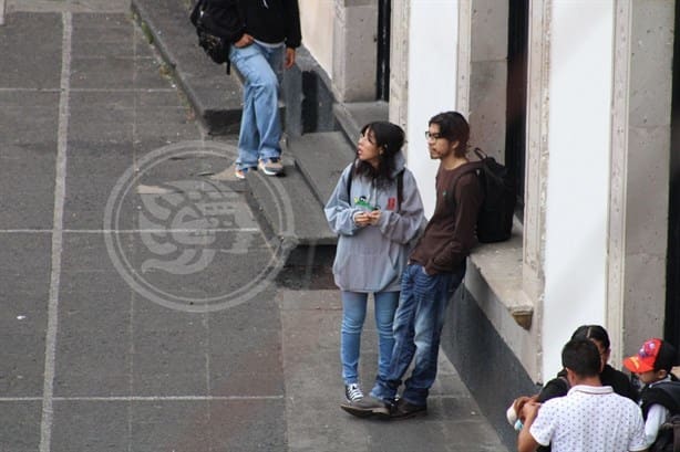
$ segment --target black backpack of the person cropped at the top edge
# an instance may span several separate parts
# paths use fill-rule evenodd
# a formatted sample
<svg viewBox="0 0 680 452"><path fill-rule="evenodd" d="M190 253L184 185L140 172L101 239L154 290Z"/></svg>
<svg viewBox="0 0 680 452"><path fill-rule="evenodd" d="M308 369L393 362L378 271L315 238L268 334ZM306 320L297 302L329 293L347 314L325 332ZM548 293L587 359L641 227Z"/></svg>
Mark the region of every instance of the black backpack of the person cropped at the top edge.
<svg viewBox="0 0 680 452"><path fill-rule="evenodd" d="M224 14L227 11L217 9L208 0L198 0L189 20L196 28L198 45L217 64L227 63L227 74L229 73L229 41L225 38L228 31L225 29Z"/></svg>

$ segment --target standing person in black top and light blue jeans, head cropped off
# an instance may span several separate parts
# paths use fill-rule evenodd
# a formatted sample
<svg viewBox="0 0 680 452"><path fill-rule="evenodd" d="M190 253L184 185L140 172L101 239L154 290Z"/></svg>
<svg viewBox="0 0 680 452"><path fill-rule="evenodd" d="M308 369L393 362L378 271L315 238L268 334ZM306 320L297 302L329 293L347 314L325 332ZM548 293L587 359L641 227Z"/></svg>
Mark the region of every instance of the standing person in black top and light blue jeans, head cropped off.
<svg viewBox="0 0 680 452"><path fill-rule="evenodd" d="M282 69L295 64L301 44L298 0L210 0L229 33L229 61L244 76L236 177L259 168L284 171L279 87Z"/></svg>

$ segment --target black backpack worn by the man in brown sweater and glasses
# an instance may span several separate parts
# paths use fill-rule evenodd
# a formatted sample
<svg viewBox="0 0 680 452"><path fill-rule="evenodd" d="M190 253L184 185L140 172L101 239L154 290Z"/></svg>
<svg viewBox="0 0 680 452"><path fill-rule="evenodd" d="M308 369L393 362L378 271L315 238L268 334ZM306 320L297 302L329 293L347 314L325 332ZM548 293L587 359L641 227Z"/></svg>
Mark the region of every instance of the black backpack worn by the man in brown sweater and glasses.
<svg viewBox="0 0 680 452"><path fill-rule="evenodd" d="M477 217L477 240L481 243L506 241L513 231L513 216L517 204L514 178L505 166L488 157L482 149L475 148L474 153L480 161L468 164L459 179L472 171L480 178L484 201ZM457 179L454 186L455 182Z"/></svg>

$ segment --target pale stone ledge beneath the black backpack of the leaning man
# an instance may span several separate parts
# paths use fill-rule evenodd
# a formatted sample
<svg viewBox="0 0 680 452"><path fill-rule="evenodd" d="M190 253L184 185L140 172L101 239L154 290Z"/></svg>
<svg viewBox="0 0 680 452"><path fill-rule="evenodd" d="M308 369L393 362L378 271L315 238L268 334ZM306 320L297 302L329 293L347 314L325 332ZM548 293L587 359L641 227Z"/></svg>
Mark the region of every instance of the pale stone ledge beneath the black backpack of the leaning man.
<svg viewBox="0 0 680 452"><path fill-rule="evenodd" d="M521 228L515 228L511 240L475 248L470 263L517 325L529 329L534 304L522 290L522 242Z"/></svg>

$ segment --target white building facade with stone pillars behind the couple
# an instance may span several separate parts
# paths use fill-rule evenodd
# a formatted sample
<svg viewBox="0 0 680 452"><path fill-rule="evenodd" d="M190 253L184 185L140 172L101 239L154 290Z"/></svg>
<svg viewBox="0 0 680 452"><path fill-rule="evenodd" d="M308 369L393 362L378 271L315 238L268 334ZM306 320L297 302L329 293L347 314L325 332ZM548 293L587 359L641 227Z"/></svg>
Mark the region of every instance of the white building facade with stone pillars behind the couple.
<svg viewBox="0 0 680 452"><path fill-rule="evenodd" d="M373 99L383 0L299 1L305 45L337 101ZM427 212L436 162L423 132L436 113L463 113L471 146L521 168L514 236L475 250L451 308L444 348L464 379L476 374L473 392L502 385L502 407L549 379L581 324L607 328L617 368L668 336L676 1L390 3L390 120L406 130ZM519 57L508 50L517 33ZM521 151L508 157L511 132Z"/></svg>

